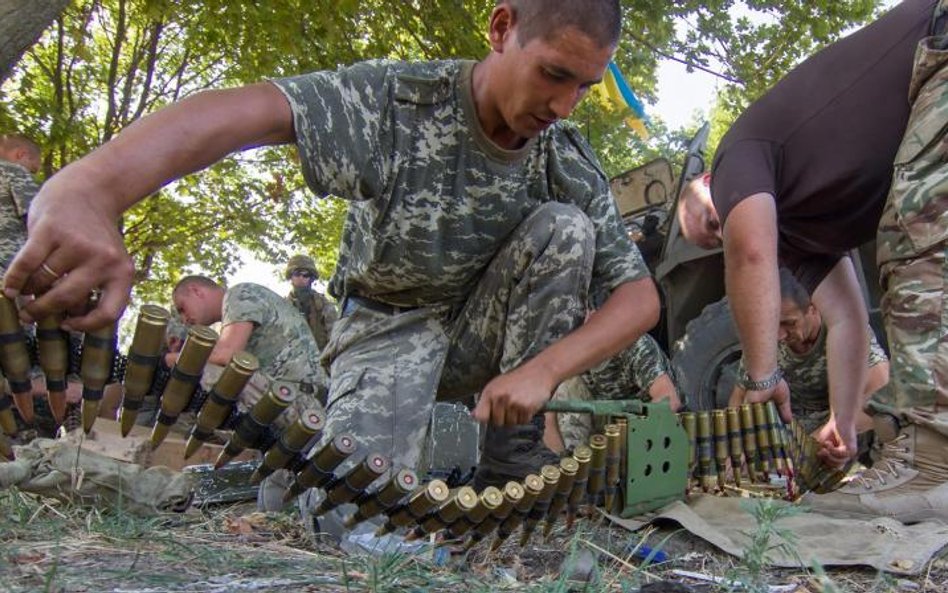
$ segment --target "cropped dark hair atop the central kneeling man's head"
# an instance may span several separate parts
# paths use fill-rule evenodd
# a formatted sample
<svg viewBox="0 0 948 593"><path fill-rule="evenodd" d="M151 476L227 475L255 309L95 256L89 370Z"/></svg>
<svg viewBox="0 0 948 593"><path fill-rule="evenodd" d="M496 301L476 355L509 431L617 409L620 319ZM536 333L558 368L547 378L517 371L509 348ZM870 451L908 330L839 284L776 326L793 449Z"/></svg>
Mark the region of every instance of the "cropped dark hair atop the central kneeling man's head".
<svg viewBox="0 0 948 593"><path fill-rule="evenodd" d="M615 47L622 32L619 0L497 0L502 4L512 9L521 45L574 27L600 47Z"/></svg>

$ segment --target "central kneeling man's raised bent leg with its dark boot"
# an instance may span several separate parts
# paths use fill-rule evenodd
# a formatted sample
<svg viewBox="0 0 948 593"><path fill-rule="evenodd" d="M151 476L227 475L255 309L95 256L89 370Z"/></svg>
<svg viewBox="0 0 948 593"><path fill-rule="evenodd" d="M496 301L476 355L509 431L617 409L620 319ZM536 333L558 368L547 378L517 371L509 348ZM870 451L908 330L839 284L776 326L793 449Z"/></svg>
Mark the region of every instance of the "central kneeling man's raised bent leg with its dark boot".
<svg viewBox="0 0 948 593"><path fill-rule="evenodd" d="M572 205L547 203L497 253L452 323L439 397L479 391L578 327L586 314L595 231ZM556 455L543 444L543 417L488 426L475 487L520 480Z"/></svg>

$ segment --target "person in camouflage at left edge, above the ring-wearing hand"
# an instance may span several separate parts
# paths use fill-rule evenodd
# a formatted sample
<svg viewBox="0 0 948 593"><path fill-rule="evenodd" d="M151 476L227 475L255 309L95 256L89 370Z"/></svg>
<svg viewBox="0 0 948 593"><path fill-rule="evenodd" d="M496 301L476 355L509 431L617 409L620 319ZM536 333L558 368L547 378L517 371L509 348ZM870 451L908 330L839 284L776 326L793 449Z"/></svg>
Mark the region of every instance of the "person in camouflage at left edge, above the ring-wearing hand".
<svg viewBox="0 0 948 593"><path fill-rule="evenodd" d="M23 136L0 136L0 274L26 241L26 212L39 186L40 150Z"/></svg>

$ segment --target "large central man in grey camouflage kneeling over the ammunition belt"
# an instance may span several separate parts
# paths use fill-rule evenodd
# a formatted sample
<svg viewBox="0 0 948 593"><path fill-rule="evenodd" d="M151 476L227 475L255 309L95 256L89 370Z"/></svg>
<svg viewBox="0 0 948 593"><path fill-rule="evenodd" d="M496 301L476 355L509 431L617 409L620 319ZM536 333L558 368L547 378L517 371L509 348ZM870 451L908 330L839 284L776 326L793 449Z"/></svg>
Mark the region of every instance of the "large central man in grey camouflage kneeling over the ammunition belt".
<svg viewBox="0 0 948 593"><path fill-rule="evenodd" d="M34 211L58 218L66 187L75 196L81 185L99 207L70 215L97 241L67 232L59 240L74 249L54 253L37 233L22 257L82 274L30 310L94 284L100 308L72 323L116 316L131 271L116 257L109 212L231 151L296 142L310 188L350 200L329 284L342 313L323 354L326 438L350 432L363 450L414 467L435 398L479 393L474 415L491 422L482 483L522 478L555 458L537 413L554 388L658 318L606 175L582 134L559 121L601 80L620 31L617 0L501 0L480 62L366 62L172 105L86 157L116 157L137 175L119 183L92 173L108 166L74 166L40 195ZM23 266L11 286L26 276L49 284ZM590 287L610 296L583 324Z"/></svg>

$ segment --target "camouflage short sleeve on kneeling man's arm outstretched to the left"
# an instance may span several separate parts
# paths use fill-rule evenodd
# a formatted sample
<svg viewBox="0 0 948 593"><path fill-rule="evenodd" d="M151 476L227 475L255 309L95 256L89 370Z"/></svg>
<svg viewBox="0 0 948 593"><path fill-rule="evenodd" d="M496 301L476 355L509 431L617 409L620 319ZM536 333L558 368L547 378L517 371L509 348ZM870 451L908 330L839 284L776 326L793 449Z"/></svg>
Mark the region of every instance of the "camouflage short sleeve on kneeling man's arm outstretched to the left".
<svg viewBox="0 0 948 593"><path fill-rule="evenodd" d="M388 62L274 81L293 111L303 176L319 196L370 200L385 187L393 135Z"/></svg>

